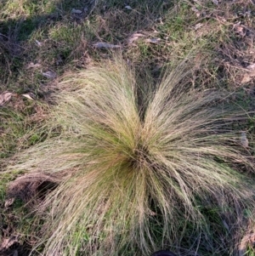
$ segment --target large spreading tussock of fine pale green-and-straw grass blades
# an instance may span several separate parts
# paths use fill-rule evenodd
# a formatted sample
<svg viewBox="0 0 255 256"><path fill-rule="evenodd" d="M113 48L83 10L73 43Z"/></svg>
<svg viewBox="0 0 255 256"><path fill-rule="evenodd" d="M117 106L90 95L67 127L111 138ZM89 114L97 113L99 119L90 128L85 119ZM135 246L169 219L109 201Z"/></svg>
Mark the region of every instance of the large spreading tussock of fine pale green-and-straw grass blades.
<svg viewBox="0 0 255 256"><path fill-rule="evenodd" d="M209 241L213 225L203 206L218 208L224 221L230 214L232 230L240 227L242 209L253 204L245 173L254 168L232 128L249 117L230 94L190 86L191 62L155 87L138 84L123 60L60 83L69 89L57 95L48 121L59 135L21 153L12 167L65 173L40 206L48 209L43 255L199 247L197 237Z"/></svg>

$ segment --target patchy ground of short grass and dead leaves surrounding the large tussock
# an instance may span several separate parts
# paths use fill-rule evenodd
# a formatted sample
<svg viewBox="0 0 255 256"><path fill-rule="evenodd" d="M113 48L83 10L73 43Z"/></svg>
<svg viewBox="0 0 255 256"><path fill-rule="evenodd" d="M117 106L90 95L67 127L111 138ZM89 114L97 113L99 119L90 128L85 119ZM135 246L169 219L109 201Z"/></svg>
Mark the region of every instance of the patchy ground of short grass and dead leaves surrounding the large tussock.
<svg viewBox="0 0 255 256"><path fill-rule="evenodd" d="M44 200L45 195L41 194L53 190L56 182L56 178L48 176L27 177L26 170L8 174L4 171L16 162L17 153L60 133L58 127L45 132L56 94L72 90L71 85L60 86L59 81L101 60L113 60L116 53L121 52L127 65L133 67L138 81L150 77L148 83L153 87L162 71L192 52L194 71L188 76L189 84L205 92L220 88L235 95L235 103L241 105L250 118L248 122L240 120L233 124L233 128L240 134L245 151L253 156L254 15L252 0L2 1L0 253L30 253L45 228L44 216L35 218L34 210ZM244 167L240 168L245 172ZM13 187L8 189L15 179L20 180L20 184L12 183ZM35 200L29 195L40 196ZM247 223L236 240L229 236L231 221L234 221L231 216L226 220L218 208L202 204L201 212L208 223L210 237L195 235L190 222L186 224L184 241L178 247L169 244L158 247L171 248L180 255L255 254L254 219L250 210L243 213ZM157 225L155 229L160 233ZM190 241L199 246L192 247ZM231 245L233 241L236 244ZM38 255L42 250L43 244L37 247ZM129 255L128 250L122 255Z"/></svg>

